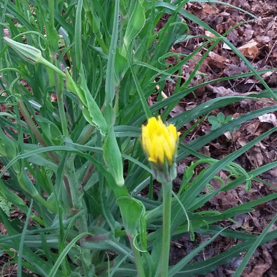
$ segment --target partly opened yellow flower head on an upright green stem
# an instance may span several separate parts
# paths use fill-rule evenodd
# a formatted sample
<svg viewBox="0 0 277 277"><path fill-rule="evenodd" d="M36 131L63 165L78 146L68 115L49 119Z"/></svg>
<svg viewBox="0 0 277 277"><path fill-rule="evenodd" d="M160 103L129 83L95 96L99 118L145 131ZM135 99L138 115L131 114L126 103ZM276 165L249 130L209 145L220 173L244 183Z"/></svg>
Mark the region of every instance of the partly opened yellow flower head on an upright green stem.
<svg viewBox="0 0 277 277"><path fill-rule="evenodd" d="M179 135L172 124L166 126L161 116L151 117L146 126L142 126L142 145L148 161L157 168L163 169L165 162L171 166L175 162L175 154Z"/></svg>

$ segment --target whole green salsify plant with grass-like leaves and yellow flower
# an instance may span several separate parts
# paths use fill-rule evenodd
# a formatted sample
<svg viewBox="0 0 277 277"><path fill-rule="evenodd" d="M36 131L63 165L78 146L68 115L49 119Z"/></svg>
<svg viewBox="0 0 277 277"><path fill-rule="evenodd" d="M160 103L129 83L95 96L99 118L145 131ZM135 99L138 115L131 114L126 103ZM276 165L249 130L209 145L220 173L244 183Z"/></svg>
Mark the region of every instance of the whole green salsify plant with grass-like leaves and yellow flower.
<svg viewBox="0 0 277 277"><path fill-rule="evenodd" d="M245 98L276 100L277 96L261 77L267 70L256 71L226 39L228 32L217 33L183 9L187 2L0 0L0 102L6 107L0 113L1 177L5 173L0 197L9 205L9 209L0 205L0 221L7 230L0 235L0 250L17 264L18 276L31 276L27 268L48 277L189 277L207 274L247 252L234 273L238 277L255 249L277 238L276 230L268 232L276 217L260 235L216 225L251 212L277 193L221 213L195 211L221 191L244 183L250 189L252 179L277 165L272 162L246 172L233 162L276 127L220 161L197 152L226 131L276 111L277 106L226 121L188 145L182 140L190 130L180 139L178 130ZM167 22L155 32L164 14ZM201 36L204 43L190 54L170 51L173 45L194 38L183 18L213 35ZM192 86L208 53L221 42L250 72ZM204 51L201 60L184 81L182 67L200 51ZM176 57L176 65L166 64L170 56ZM262 93L217 97L169 117L195 89L251 75L264 86ZM168 81L175 82L174 92L163 99ZM149 107L147 98L156 88L156 102ZM187 165L175 194L175 163L188 155L197 162ZM194 168L201 163L209 166L195 176ZM218 179L216 173L221 170L230 172L233 179L213 190L209 182ZM153 199L155 178L162 183L159 200ZM209 193L202 193L205 187ZM7 210L11 209L23 216L10 220ZM169 266L170 240L186 233L192 240L195 233L214 236ZM189 263L219 234L243 242L214 258Z"/></svg>

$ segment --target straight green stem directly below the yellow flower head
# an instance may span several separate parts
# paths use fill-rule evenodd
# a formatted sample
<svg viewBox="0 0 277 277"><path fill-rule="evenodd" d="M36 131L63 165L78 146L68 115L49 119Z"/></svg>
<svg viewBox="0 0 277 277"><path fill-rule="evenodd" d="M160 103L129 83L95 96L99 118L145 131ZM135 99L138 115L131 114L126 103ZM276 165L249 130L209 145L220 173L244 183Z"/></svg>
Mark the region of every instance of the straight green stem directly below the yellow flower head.
<svg viewBox="0 0 277 277"><path fill-rule="evenodd" d="M171 227L171 191L172 182L164 182L163 186L163 246L162 246L162 264L161 277L167 277L170 251L170 227Z"/></svg>

